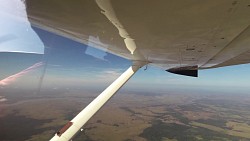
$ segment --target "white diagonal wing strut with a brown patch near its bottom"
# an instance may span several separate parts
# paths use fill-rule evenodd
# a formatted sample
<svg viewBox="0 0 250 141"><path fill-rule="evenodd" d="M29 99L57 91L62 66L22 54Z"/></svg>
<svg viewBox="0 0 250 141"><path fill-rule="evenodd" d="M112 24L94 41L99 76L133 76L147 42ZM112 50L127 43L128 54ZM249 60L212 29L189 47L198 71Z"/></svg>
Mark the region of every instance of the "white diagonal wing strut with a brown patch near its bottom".
<svg viewBox="0 0 250 141"><path fill-rule="evenodd" d="M136 62L129 67L108 88L85 107L74 119L68 122L50 141L69 141L82 126L133 76L145 63Z"/></svg>

